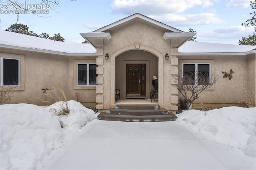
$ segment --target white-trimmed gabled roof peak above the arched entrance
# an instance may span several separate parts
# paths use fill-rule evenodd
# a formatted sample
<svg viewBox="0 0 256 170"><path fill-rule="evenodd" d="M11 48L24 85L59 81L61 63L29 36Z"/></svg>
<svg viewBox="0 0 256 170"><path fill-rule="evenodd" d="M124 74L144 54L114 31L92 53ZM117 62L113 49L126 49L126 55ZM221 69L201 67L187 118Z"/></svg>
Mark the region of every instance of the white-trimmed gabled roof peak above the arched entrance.
<svg viewBox="0 0 256 170"><path fill-rule="evenodd" d="M181 30L178 30L178 29L176 29L176 28L173 28L173 27L171 27L171 26L168 26L168 25L166 25L166 24L163 24L162 22L156 21L156 20L154 20L154 19L152 19L152 18L149 18L149 17L144 16L144 15L139 14L139 13L135 13L135 14L133 14L133 15L131 15L131 16L128 16L128 17L126 17L126 18L123 18L122 20L116 21L116 22L114 22L114 23L112 23L112 24L109 24L109 25L107 25L107 26L104 26L104 27L102 27L102 28L99 28L99 29L97 29L97 30L94 30L93 32L104 32L104 31L106 31L106 30L108 30L108 29L110 29L110 28L113 28L113 27L115 27L115 26L118 26L118 25L120 25L120 24L122 24L122 23L124 23L124 22L128 22L128 21L130 21L130 20L132 20L132 19L134 19L134 18L140 18L140 19L145 20L145 21L147 21L147 22L150 22L150 23L152 23L152 24L154 24L154 25L157 25L157 26L160 26L160 27L165 28L165 29L167 29L167 30L170 30L170 32L182 32Z"/></svg>

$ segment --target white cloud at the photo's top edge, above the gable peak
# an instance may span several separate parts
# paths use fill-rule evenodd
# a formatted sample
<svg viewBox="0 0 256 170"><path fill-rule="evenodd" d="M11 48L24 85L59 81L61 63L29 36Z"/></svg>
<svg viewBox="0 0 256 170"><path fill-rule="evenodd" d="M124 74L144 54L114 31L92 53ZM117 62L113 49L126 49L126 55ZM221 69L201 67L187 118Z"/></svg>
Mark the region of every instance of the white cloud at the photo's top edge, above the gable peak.
<svg viewBox="0 0 256 170"><path fill-rule="evenodd" d="M184 12L195 6L212 6L210 0L114 0L111 9L121 14L170 14Z"/></svg>

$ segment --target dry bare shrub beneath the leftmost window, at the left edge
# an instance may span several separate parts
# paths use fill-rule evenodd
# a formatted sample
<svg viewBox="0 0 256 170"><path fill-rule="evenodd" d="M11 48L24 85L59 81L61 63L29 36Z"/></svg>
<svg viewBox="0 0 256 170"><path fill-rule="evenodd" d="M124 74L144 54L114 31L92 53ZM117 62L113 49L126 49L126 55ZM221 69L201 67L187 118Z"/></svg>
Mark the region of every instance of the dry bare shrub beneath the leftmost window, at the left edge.
<svg viewBox="0 0 256 170"><path fill-rule="evenodd" d="M12 86L0 87L0 105L11 102L11 99L14 95L14 88L15 87Z"/></svg>

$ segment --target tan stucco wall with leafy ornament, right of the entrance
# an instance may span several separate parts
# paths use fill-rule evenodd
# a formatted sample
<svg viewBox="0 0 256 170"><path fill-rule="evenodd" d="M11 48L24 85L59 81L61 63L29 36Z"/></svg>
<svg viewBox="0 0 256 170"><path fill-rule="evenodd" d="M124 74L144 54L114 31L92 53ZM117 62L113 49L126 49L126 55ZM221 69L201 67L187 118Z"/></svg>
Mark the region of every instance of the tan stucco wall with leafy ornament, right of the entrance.
<svg viewBox="0 0 256 170"><path fill-rule="evenodd" d="M201 93L199 99L194 101L192 107L224 107L235 106L242 103L242 97L246 95L248 90L248 57L245 55L222 55L222 56L178 56L180 70L182 63L214 63L211 65L212 74L220 77L218 82L211 89L207 89ZM252 57L250 57L252 58ZM253 64L252 66L253 67ZM234 71L233 78L223 78L222 71ZM255 68L254 68L255 70ZM254 81L251 78L250 81ZM252 85L250 89L255 86ZM179 95L181 97L181 95Z"/></svg>

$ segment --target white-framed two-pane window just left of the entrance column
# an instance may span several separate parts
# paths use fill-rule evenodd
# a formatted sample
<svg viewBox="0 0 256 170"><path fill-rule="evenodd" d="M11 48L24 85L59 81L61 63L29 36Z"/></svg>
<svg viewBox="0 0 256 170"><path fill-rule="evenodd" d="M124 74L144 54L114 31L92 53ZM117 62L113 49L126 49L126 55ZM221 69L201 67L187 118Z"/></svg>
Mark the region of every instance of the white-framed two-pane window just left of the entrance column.
<svg viewBox="0 0 256 170"><path fill-rule="evenodd" d="M97 85L96 64L77 63L76 64L76 85Z"/></svg>

